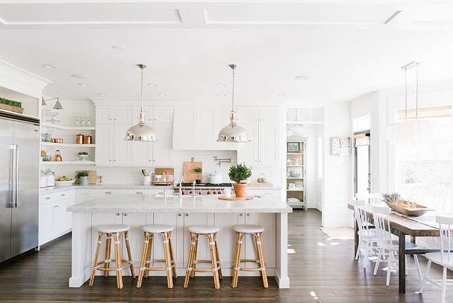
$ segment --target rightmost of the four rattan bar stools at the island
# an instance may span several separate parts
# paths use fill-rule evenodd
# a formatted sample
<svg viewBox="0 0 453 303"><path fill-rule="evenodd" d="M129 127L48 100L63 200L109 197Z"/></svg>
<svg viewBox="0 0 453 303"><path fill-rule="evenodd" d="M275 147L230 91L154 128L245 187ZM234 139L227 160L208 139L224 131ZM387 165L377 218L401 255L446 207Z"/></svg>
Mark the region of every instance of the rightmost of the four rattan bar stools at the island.
<svg viewBox="0 0 453 303"><path fill-rule="evenodd" d="M239 276L239 271L260 271L263 278L264 288L268 288L268 276L266 275L266 263L264 262L263 249L261 246L261 235L264 232L264 227L260 225L235 225L233 230L236 232L237 243L234 254L233 261L233 279L231 280L231 287L237 287L237 278ZM253 259L242 259L241 260L241 251L242 251L242 241L246 234L253 234L255 236L255 243L257 246L258 260ZM246 268L240 267L242 262L254 262L259 265L257 268Z"/></svg>

